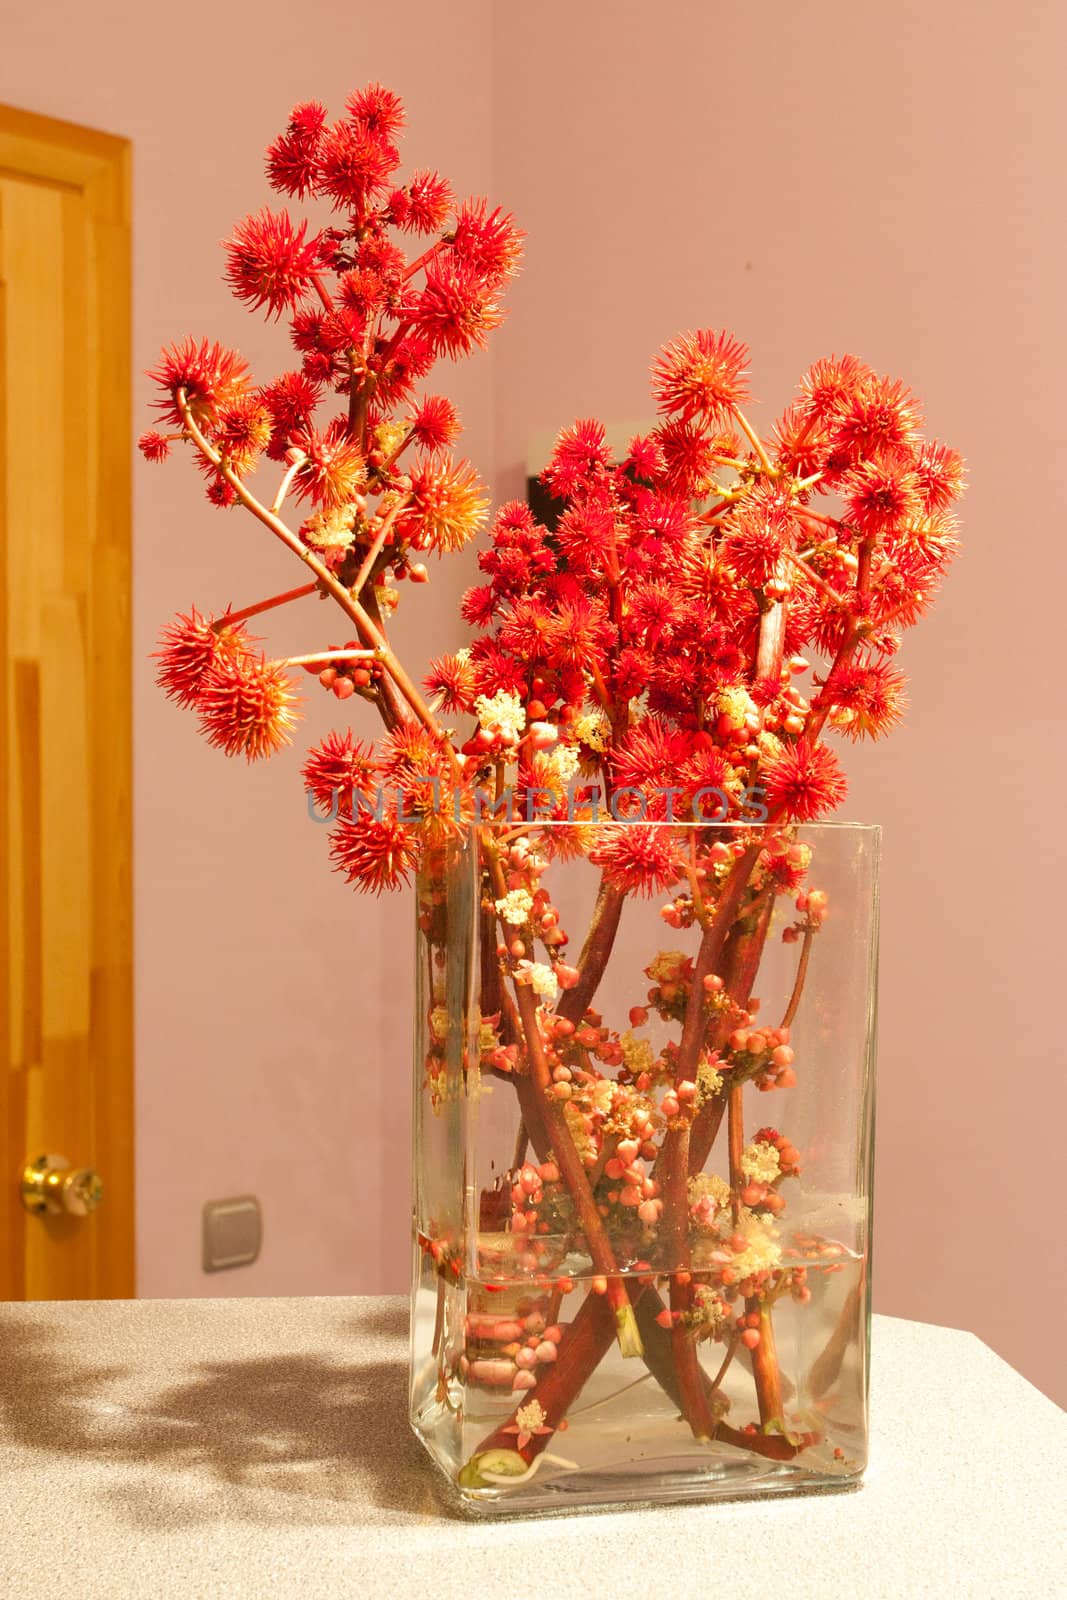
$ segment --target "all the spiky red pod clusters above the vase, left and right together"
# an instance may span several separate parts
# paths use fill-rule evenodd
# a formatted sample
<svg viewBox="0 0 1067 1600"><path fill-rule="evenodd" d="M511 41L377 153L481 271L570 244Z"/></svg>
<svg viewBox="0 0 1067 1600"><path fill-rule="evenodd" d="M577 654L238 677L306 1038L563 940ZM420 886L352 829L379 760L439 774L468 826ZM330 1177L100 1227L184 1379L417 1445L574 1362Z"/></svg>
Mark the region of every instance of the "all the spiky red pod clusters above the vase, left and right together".
<svg viewBox="0 0 1067 1600"><path fill-rule="evenodd" d="M557 816L568 789L585 814L597 786L617 824L587 840L606 882L672 891L693 864L645 824L817 819L846 792L824 734L880 738L901 720L893 658L955 554L961 459L921 435L902 382L854 355L816 362L763 442L742 411L745 346L709 328L670 339L651 371L657 426L616 456L603 424L574 422L544 470L557 525L518 502L498 512L483 581L462 602L477 637L424 680L437 710L477 717L453 742L384 626L398 581L427 578L414 557L464 546L488 499L450 454L453 403L416 387L498 326L522 234L485 200L458 203L435 171L402 182L403 120L381 85L333 123L315 102L293 110L267 176L333 216L318 229L286 210L246 218L226 275L238 299L288 317L298 365L256 384L234 350L171 346L152 373L170 432L141 446L162 461L171 443L194 445L208 498L243 502L302 555L366 646L347 650L358 661L334 661L333 646L298 658L390 730L378 755L346 733L306 766L315 802L336 811L333 856L354 883L379 891L408 875L408 819L435 811L430 789L451 797L438 810L467 814L478 786L509 782L518 805L541 808L547 794ZM283 472L269 504L248 486L262 458ZM294 530L282 522L290 493L306 502ZM160 659L166 693L221 749L254 758L288 739L286 664L258 656L240 622L194 610L166 629ZM713 894L721 872L697 867Z"/></svg>

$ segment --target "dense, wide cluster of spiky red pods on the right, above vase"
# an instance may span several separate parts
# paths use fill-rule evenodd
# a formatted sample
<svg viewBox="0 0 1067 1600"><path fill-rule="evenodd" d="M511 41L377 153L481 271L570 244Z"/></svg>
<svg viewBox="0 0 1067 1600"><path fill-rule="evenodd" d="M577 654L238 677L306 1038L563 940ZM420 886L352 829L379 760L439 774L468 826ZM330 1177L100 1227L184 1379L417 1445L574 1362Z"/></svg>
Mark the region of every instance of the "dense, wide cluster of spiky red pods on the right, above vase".
<svg viewBox="0 0 1067 1600"><path fill-rule="evenodd" d="M621 459L600 422L565 429L544 472L558 526L502 507L488 582L464 598L482 637L429 680L450 709L517 694L619 814L745 819L758 802L813 821L840 805L821 734L878 738L901 718L891 658L955 554L961 461L920 437L902 384L856 357L819 362L768 448L741 411L745 371L729 334L685 334L653 363L659 427ZM806 693L801 651L829 658ZM665 886L638 846L640 829L613 837L608 875Z"/></svg>

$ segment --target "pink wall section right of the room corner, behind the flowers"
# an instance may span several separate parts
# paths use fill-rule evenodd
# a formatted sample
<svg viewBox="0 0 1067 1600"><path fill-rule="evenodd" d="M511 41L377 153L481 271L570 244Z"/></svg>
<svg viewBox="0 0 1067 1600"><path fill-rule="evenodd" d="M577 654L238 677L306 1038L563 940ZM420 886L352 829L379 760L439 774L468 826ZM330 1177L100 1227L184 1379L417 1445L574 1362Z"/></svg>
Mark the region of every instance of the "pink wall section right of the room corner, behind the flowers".
<svg viewBox="0 0 1067 1600"><path fill-rule="evenodd" d="M857 350L969 458L909 726L849 758L849 813L885 824L877 1306L1062 1395L1067 13L542 0L494 48L496 187L531 235L502 488L531 434L648 414L653 350L709 325L752 342L763 419Z"/></svg>

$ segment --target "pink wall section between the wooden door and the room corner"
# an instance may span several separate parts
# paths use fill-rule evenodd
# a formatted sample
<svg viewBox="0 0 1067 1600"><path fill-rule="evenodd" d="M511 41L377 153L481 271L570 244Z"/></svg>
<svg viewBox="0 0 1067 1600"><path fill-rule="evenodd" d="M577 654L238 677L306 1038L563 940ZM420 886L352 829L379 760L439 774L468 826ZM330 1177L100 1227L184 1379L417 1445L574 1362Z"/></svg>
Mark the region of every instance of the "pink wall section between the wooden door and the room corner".
<svg viewBox="0 0 1067 1600"><path fill-rule="evenodd" d="M331 21L333 16L333 21ZM298 99L379 77L411 107L408 158L462 190L490 186L490 5L405 10L120 0L5 16L0 101L134 142L134 370L186 331L238 344L264 371L285 331L235 306L218 248L269 198L262 150ZM456 371L467 450L491 459L490 368ZM147 426L146 421L141 426ZM464 574L443 568L398 629L443 648ZM187 462L136 469L138 1224L142 1294L402 1290L408 1278L410 934L406 899L357 901L307 821L301 746L245 770L165 704L146 661L195 602L221 610L301 582L245 517L205 506ZM304 610L272 637L315 648ZM434 640L437 645L434 646ZM336 702L309 704L306 731ZM333 718L342 722L341 714ZM382 1130L389 1128L389 1144ZM205 1198L264 1202L261 1261L200 1272Z"/></svg>

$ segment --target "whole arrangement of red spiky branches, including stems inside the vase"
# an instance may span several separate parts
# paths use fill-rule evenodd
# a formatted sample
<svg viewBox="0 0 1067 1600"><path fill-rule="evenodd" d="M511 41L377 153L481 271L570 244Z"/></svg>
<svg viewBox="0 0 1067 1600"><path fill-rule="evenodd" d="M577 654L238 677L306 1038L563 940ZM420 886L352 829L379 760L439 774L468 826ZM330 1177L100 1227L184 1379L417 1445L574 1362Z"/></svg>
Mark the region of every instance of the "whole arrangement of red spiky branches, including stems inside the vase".
<svg viewBox="0 0 1067 1600"><path fill-rule="evenodd" d="M803 826L846 794L827 736L878 739L902 717L897 650L957 552L963 462L923 435L901 381L854 355L816 362L761 435L744 344L681 334L653 363L659 421L625 453L597 421L558 435L552 528L522 502L496 512L462 600L472 643L416 683L387 632L402 584L426 584L429 552L490 523L488 493L453 454L456 410L424 381L499 325L522 234L435 171L400 182L402 125L397 96L371 85L334 123L298 106L267 152L277 190L331 213L314 230L264 210L226 245L237 298L288 318L291 370L256 382L235 350L186 339L152 373L162 421L146 458L189 446L210 502L251 514L306 570L285 594L178 616L158 682L248 760L293 738L299 669L379 715L376 744L344 726L302 773L347 882L378 894L419 877L435 1102L459 1027L440 981L442 883L458 842L475 840L480 1035L462 1070L506 1083L522 1117L480 1226L544 1294L518 1320L467 1302L451 1354L435 1330L438 1398L480 1382L509 1405L461 1483L526 1482L613 1341L643 1357L696 1440L790 1461L819 1438L787 1416L773 1336L774 1301L809 1296L777 1234L801 1152L776 1128L745 1133L744 1090L797 1085L792 1029L830 912ZM323 643L320 627L306 654L264 654L246 624L310 597L352 637ZM598 880L577 955L549 886L571 856ZM617 1029L593 1002L641 899L693 950L653 954ZM769 1026L752 987L779 902L795 904L781 941L797 966ZM661 1048L638 1032L649 1013ZM723 1122L720 1178L705 1168ZM464 1270L446 1232L421 1238L442 1294ZM569 1278L547 1274L539 1243L561 1234L587 1286L566 1325ZM713 1379L704 1341L723 1346ZM758 1405L744 1427L721 1403L734 1357Z"/></svg>

